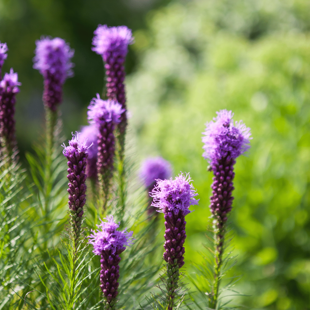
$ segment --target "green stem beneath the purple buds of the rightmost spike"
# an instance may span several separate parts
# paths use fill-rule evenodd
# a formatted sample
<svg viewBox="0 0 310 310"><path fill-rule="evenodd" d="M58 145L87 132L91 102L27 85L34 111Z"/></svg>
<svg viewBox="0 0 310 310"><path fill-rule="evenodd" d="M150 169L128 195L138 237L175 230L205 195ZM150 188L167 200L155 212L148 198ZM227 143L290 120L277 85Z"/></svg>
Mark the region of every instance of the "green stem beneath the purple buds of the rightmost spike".
<svg viewBox="0 0 310 310"><path fill-rule="evenodd" d="M223 223L219 223L216 217L214 217L213 219L213 231L214 231L214 247L215 247L214 280L212 290L209 295L209 303L211 309L216 309L218 306L219 285L221 281L221 267L223 263L224 236L225 236L224 225Z"/></svg>

